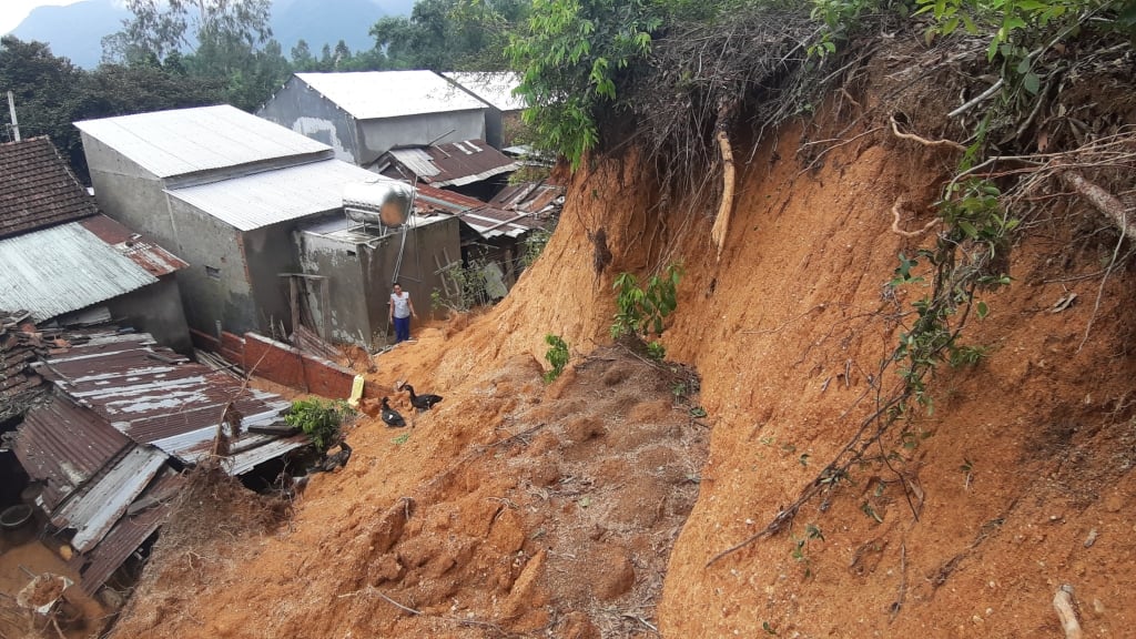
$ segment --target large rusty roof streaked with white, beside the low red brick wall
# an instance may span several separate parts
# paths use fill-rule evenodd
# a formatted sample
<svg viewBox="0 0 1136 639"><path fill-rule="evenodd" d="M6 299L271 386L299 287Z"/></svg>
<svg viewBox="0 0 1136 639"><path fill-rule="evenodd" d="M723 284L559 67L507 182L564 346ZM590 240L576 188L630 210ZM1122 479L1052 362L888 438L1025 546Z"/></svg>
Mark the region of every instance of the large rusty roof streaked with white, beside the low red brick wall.
<svg viewBox="0 0 1136 639"><path fill-rule="evenodd" d="M145 333L94 338L48 358L41 373L134 441L161 446L186 463L200 456L194 448L201 433L216 430L229 401L251 422L274 420L289 406L154 346ZM243 443L239 439L234 447Z"/></svg>

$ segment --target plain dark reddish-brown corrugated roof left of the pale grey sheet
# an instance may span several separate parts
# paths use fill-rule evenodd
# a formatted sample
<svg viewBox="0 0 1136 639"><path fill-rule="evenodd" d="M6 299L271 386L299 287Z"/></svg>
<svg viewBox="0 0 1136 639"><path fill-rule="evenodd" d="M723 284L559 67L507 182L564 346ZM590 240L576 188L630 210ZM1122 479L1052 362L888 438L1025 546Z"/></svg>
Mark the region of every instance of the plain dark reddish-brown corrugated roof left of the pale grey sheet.
<svg viewBox="0 0 1136 639"><path fill-rule="evenodd" d="M55 511L128 446L131 440L106 420L52 397L27 412L15 453L27 474L43 482L43 505Z"/></svg>

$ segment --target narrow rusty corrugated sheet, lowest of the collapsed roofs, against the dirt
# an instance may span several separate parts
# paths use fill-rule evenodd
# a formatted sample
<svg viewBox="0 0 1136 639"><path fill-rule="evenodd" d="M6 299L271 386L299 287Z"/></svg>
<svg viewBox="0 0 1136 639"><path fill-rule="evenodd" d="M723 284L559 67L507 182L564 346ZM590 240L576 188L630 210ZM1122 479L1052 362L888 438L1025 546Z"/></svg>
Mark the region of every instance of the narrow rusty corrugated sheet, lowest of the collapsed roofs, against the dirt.
<svg viewBox="0 0 1136 639"><path fill-rule="evenodd" d="M68 565L80 574L80 587L94 595L110 579L118 566L126 562L166 521L169 500L184 487L185 479L166 468L153 483L132 504L152 501L153 505L120 517L98 546L85 554L75 554Z"/></svg>

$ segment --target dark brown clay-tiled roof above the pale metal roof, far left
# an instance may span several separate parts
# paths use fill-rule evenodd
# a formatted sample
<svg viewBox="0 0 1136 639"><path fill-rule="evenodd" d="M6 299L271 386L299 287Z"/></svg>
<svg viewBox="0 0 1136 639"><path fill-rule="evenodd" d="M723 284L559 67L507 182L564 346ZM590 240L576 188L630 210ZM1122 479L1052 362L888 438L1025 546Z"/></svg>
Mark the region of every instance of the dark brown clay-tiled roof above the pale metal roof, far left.
<svg viewBox="0 0 1136 639"><path fill-rule="evenodd" d="M0 144L0 238L98 213L51 140Z"/></svg>

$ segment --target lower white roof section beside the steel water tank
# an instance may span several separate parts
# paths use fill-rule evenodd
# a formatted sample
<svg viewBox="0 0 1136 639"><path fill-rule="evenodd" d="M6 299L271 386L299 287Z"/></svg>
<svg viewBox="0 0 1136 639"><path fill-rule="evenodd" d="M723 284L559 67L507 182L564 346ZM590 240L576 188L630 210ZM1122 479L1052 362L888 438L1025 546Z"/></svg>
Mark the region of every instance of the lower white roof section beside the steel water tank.
<svg viewBox="0 0 1136 639"><path fill-rule="evenodd" d="M343 186L377 176L329 159L166 192L241 231L343 208Z"/></svg>

